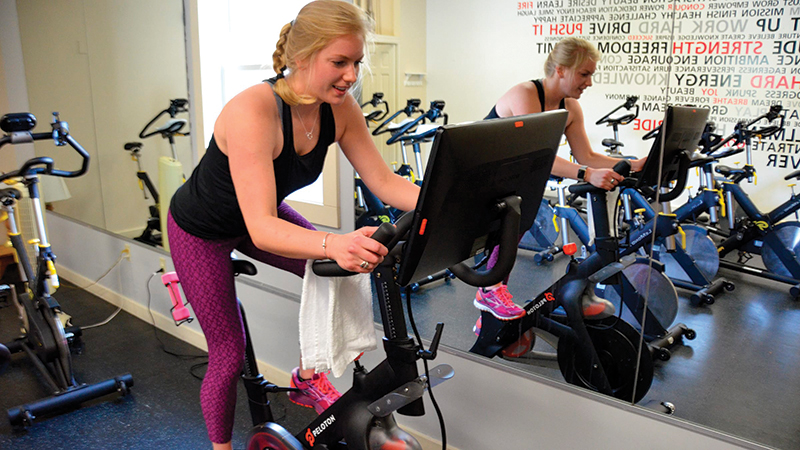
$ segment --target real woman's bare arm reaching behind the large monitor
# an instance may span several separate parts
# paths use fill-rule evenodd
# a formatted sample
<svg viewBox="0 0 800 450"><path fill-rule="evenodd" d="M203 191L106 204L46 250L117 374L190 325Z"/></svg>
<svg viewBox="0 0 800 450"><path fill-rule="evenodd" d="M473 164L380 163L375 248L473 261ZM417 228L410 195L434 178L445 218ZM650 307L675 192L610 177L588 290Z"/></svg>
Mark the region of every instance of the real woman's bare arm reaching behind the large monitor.
<svg viewBox="0 0 800 450"><path fill-rule="evenodd" d="M339 145L369 190L384 203L412 211L417 205L419 186L392 172L383 161L355 99L348 95L334 113L337 128L340 124L342 127Z"/></svg>

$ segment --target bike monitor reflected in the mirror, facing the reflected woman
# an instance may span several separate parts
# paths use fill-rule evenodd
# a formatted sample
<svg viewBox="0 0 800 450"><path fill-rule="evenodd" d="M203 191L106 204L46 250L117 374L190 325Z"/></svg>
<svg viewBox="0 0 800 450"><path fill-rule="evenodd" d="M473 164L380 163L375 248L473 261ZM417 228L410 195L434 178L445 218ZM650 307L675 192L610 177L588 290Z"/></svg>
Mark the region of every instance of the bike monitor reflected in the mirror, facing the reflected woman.
<svg viewBox="0 0 800 450"><path fill-rule="evenodd" d="M680 155L684 150L693 151L700 142L708 122L709 109L693 106L668 106L664 113L661 131L653 140L653 147L639 176L638 186L666 186L678 178ZM662 136L664 151L661 151ZM664 155L661 178L658 177L658 162ZM659 182L660 181L660 182Z"/></svg>

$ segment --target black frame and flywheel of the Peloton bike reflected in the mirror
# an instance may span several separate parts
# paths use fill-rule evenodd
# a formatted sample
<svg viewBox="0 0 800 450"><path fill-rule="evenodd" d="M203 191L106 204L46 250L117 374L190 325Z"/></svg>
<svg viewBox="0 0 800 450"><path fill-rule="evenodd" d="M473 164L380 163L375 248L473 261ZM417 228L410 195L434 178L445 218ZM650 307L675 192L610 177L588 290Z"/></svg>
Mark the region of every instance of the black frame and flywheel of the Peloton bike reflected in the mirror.
<svg viewBox="0 0 800 450"><path fill-rule="evenodd" d="M630 164L622 160L615 170L626 175ZM478 339L470 352L490 358L500 356L504 349L520 345L521 339L526 340L523 344L529 349L535 335L526 332L536 328L558 338L556 358L568 383L638 402L653 379L653 360L646 344L639 345L639 333L622 318L589 321L582 312L582 297L593 290L595 283L625 283L623 299L630 296L628 291L638 297L622 272L617 242L609 232L604 205L607 192L588 183L572 185L569 190L590 196L597 251L581 262L572 259L564 276L525 304L523 317L501 321L482 311L480 329L476 326ZM558 307L563 308L564 315L553 314ZM676 339L680 340L680 336ZM525 352L514 350L517 354Z"/></svg>

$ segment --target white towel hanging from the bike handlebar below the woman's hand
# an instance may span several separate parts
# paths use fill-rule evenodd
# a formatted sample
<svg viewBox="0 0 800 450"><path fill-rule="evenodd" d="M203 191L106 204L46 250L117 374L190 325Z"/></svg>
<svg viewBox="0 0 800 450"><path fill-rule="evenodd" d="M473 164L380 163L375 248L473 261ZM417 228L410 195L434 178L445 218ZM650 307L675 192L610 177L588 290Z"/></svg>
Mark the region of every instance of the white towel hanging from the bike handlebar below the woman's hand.
<svg viewBox="0 0 800 450"><path fill-rule="evenodd" d="M312 263L300 298L300 356L304 369L338 378L359 354L378 347L370 276L319 277Z"/></svg>

